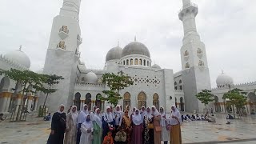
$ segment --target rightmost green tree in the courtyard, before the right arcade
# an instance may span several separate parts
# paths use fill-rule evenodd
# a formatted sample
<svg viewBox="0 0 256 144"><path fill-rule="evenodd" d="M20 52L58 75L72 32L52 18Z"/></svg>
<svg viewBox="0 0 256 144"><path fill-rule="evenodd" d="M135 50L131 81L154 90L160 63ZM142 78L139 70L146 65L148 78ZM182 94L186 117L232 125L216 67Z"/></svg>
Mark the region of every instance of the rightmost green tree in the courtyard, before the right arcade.
<svg viewBox="0 0 256 144"><path fill-rule="evenodd" d="M227 93L223 94L223 99L228 99L226 102L227 106L233 107L233 114L234 114L234 107L237 108L238 113L242 110L242 107L246 105L246 92L240 89L229 90ZM234 114L235 118L235 114Z"/></svg>

